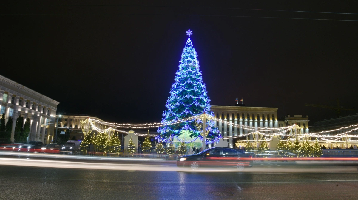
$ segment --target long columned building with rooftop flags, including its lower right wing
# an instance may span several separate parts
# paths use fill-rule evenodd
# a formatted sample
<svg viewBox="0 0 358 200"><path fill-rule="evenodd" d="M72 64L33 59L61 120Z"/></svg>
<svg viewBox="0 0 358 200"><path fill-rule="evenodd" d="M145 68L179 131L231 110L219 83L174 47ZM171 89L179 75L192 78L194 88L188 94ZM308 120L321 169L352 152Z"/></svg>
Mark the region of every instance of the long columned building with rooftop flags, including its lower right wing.
<svg viewBox="0 0 358 200"><path fill-rule="evenodd" d="M297 123L298 125L304 125L306 127L306 132L308 132L308 116L307 118L302 118L302 116L295 116L292 118L288 116L288 118L286 117L279 120L277 118L278 109L279 108L246 107L242 104L236 104L235 106L211 106L211 111L214 113L216 118L231 122L233 124L250 127L283 128L289 123ZM226 123L222 123L220 121L215 121L214 126L219 129L220 133L224 137L244 135L255 131L237 128L233 125L227 125ZM274 131L272 130L265 131L265 133L273 132ZM250 139L252 139L252 135L250 135ZM232 139L229 139L228 142L229 146L233 147Z"/></svg>

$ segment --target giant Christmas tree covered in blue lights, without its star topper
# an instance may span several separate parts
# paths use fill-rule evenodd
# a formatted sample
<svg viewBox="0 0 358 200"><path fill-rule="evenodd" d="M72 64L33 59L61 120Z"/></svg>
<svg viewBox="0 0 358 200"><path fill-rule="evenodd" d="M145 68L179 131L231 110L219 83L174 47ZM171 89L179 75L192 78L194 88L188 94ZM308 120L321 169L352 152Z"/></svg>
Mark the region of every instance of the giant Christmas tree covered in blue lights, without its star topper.
<svg viewBox="0 0 358 200"><path fill-rule="evenodd" d="M203 113L210 114L210 98L207 96L206 86L203 83L197 52L190 38L188 39L182 57L179 61L179 70L176 72L175 82L171 85L170 97L166 102L166 111L163 112L163 127L158 128L160 138L168 139L189 132L190 137L197 137L200 133L195 127L195 119L189 122L169 124L172 120L185 119L199 116ZM207 135L208 140L218 137L219 131L209 121L206 127L211 129ZM190 139L192 140L192 139Z"/></svg>

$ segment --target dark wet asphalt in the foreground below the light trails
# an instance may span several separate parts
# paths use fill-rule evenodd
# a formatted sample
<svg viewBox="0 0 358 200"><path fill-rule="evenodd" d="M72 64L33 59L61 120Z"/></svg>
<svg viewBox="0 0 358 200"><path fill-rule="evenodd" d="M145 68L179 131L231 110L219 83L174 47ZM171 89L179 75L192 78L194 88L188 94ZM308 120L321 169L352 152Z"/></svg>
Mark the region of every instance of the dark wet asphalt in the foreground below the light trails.
<svg viewBox="0 0 358 200"><path fill-rule="evenodd" d="M0 199L353 200L357 196L355 172L202 173L0 165Z"/></svg>

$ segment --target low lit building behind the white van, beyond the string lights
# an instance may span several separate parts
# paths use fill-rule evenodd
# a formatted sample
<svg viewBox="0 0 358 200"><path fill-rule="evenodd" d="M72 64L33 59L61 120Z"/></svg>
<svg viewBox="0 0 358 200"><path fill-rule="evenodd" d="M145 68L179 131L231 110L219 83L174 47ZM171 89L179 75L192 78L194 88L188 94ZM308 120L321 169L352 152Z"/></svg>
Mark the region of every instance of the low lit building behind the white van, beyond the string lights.
<svg viewBox="0 0 358 200"><path fill-rule="evenodd" d="M59 116L56 116L59 117ZM86 120L87 118L96 119L101 122L104 122L102 119L97 117L92 117L87 114L64 114L61 115L61 119L58 119L58 129L57 134L61 134L61 132L69 132L69 139L74 140L82 140L83 132L81 129L81 120ZM95 123L97 128L103 129L104 125ZM86 127L85 127L86 128Z"/></svg>

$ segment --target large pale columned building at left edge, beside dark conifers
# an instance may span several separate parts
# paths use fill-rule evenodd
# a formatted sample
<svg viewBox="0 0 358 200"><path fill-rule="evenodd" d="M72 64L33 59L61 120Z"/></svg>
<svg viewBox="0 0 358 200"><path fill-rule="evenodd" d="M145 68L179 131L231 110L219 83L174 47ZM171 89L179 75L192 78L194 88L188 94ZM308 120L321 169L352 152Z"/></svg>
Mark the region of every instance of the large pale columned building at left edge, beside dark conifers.
<svg viewBox="0 0 358 200"><path fill-rule="evenodd" d="M57 105L60 103L9 78L0 75L0 114L5 114L5 123L13 118L11 142L14 142L16 119L30 120L28 140L50 143L54 137Z"/></svg>

